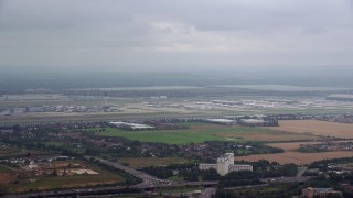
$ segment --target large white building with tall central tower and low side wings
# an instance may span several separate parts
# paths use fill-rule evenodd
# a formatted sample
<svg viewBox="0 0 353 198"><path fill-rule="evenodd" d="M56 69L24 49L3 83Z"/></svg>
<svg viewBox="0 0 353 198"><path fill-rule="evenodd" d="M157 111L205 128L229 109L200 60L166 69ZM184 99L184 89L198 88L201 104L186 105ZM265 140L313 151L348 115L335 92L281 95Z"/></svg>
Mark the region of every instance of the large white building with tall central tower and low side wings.
<svg viewBox="0 0 353 198"><path fill-rule="evenodd" d="M199 164L199 169L214 168L222 176L231 172L248 170L253 172L253 166L248 164L234 164L234 153L226 153L217 158L217 164Z"/></svg>

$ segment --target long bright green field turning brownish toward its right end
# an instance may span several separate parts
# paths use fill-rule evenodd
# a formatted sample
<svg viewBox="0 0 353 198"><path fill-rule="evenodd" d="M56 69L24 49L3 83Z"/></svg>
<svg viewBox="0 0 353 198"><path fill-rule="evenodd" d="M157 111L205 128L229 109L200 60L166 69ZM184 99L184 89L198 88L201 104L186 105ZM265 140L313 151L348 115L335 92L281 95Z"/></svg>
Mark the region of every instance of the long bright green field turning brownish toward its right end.
<svg viewBox="0 0 353 198"><path fill-rule="evenodd" d="M169 144L201 143L205 141L298 141L318 139L308 134L278 132L263 128L238 125L218 125L210 123L186 123L189 129L183 130L148 130L124 131L107 128L104 132L96 132L99 136L122 136L141 142L162 142Z"/></svg>

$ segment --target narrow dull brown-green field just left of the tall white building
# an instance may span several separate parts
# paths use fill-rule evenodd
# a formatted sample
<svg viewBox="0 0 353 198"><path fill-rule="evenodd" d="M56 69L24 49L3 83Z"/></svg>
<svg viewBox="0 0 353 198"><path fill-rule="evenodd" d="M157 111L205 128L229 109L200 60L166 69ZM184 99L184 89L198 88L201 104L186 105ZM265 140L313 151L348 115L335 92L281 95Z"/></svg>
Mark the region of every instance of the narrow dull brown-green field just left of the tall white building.
<svg viewBox="0 0 353 198"><path fill-rule="evenodd" d="M118 158L118 162L128 163L130 167L140 168L149 166L170 165L173 163L188 163L190 161L180 157L136 157Z"/></svg>

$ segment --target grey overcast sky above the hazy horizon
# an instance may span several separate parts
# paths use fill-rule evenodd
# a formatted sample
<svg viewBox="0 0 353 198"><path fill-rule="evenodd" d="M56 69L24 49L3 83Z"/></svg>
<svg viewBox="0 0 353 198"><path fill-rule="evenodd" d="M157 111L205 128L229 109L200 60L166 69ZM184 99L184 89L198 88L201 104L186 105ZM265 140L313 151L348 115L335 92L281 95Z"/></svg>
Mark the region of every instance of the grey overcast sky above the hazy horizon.
<svg viewBox="0 0 353 198"><path fill-rule="evenodd" d="M0 69L353 66L352 0L0 0Z"/></svg>

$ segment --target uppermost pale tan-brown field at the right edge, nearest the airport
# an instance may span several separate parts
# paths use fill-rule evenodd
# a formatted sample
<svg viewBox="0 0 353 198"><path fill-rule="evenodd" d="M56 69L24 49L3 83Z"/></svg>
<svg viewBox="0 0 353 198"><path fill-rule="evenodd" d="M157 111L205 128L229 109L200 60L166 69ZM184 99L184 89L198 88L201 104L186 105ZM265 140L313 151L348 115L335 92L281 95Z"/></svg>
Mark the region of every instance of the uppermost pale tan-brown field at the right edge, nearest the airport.
<svg viewBox="0 0 353 198"><path fill-rule="evenodd" d="M279 127L268 129L295 133L353 139L353 124L319 120L281 120Z"/></svg>

